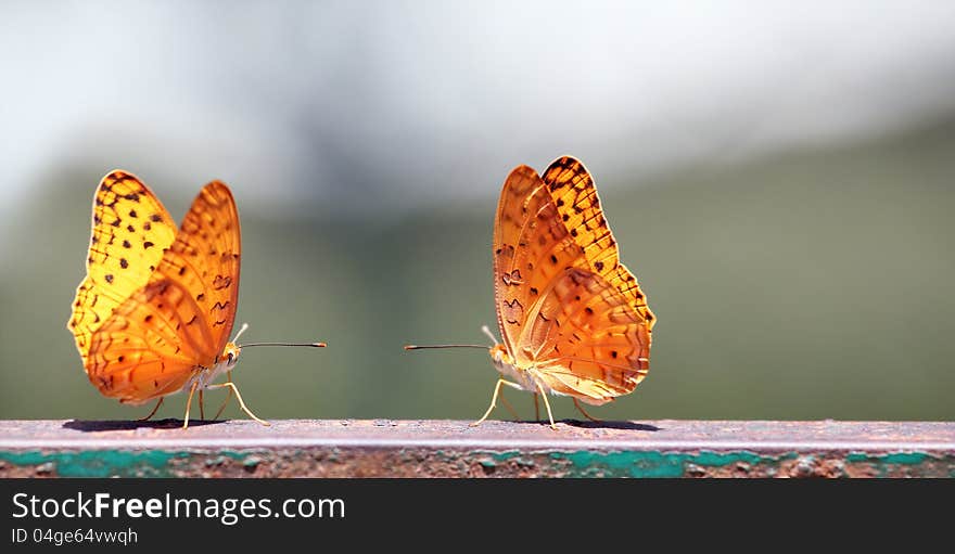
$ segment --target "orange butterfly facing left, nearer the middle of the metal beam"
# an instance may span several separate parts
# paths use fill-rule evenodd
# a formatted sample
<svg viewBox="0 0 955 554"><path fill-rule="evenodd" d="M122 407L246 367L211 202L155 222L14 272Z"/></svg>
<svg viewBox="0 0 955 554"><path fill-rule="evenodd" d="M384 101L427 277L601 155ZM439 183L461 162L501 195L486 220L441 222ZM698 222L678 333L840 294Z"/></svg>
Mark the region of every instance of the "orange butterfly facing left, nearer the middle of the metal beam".
<svg viewBox="0 0 955 554"><path fill-rule="evenodd" d="M498 379L473 425L494 410L502 385L535 392L535 403L540 394L556 428L547 392L572 397L587 415L577 400L599 405L646 377L655 319L620 262L581 162L561 157L543 178L527 166L508 176L494 223L494 293L504 343L491 358L513 381Z"/></svg>

